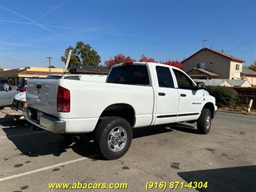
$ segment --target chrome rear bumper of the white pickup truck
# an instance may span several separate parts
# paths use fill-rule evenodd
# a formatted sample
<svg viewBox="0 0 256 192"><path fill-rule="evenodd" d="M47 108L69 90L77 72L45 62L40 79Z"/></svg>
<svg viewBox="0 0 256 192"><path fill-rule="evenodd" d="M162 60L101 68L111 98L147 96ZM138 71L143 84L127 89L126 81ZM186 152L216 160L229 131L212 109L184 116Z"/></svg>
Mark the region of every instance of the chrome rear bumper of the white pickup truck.
<svg viewBox="0 0 256 192"><path fill-rule="evenodd" d="M28 122L37 127L51 132L65 133L66 122L63 120L58 120L57 118L52 118L51 116L46 115L40 116L39 120L33 120L29 109L23 109L22 115L26 120L28 120Z"/></svg>

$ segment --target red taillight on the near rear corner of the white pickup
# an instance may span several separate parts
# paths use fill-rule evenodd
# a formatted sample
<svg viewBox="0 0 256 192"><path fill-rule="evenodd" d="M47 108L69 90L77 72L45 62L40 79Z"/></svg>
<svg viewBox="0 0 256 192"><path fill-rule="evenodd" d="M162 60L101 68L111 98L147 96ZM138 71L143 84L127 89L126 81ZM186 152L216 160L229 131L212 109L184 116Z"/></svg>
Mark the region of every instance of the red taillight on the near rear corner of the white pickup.
<svg viewBox="0 0 256 192"><path fill-rule="evenodd" d="M62 86L58 86L57 110L64 113L68 113L70 111L70 92Z"/></svg>

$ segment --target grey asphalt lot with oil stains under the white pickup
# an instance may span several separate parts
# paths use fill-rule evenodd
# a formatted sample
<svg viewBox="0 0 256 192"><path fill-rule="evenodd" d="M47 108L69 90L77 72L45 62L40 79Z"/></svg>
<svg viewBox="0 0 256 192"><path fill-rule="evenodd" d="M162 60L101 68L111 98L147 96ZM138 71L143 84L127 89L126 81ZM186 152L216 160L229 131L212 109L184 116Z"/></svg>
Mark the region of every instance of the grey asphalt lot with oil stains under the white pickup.
<svg viewBox="0 0 256 192"><path fill-rule="evenodd" d="M193 127L135 129L129 152L105 161L89 141L74 144L20 122L11 125L0 114L0 190L51 191L49 182L127 182L127 191L145 191L148 181L207 181L208 188L199 191L255 191L256 117L219 112L209 134Z"/></svg>

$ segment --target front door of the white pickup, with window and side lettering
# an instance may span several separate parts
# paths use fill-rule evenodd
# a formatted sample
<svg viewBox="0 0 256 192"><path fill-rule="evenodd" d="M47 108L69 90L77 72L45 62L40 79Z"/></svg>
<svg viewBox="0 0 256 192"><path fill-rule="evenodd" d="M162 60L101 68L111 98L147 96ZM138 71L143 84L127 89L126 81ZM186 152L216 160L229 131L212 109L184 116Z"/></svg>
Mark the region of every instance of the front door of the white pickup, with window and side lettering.
<svg viewBox="0 0 256 192"><path fill-rule="evenodd" d="M204 93L196 90L196 85L182 70L173 68L178 92L179 92L179 111L177 122L196 120L201 113Z"/></svg>

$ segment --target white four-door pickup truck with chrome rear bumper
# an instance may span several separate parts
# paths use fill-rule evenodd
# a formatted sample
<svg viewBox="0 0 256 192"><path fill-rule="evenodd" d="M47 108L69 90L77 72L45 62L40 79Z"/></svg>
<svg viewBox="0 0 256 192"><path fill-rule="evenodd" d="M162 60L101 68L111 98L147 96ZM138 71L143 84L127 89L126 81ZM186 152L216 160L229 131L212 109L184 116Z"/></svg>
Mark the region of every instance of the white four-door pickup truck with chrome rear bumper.
<svg viewBox="0 0 256 192"><path fill-rule="evenodd" d="M31 79L26 119L63 136L93 133L106 159L124 156L132 129L174 122L196 122L207 134L216 113L215 98L179 68L160 63L122 63L106 82Z"/></svg>

